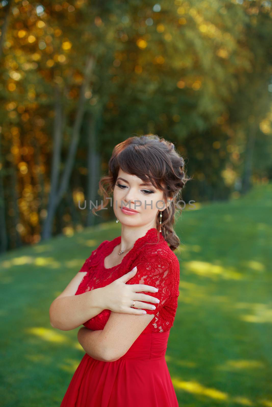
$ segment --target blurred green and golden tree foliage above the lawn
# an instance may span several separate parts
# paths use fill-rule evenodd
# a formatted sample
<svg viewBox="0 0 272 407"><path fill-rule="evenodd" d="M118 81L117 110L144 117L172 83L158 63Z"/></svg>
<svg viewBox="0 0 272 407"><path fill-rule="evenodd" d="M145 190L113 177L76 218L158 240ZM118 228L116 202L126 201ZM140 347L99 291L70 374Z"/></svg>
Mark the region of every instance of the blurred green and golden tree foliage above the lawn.
<svg viewBox="0 0 272 407"><path fill-rule="evenodd" d="M56 92L64 112L61 169L83 107L95 121L102 173L115 144L156 133L188 159L188 175L197 181L186 188L190 199L226 199L240 179L271 176L270 2L24 0L9 10L8 4L0 4L1 160L18 173L25 243L39 239L48 202ZM82 119L71 190L89 171L84 126ZM258 152L268 152L260 165L257 139ZM10 202L7 176L2 182ZM82 191L85 185L82 180ZM43 206L31 208L25 189ZM32 226L33 212L39 221ZM18 228L12 217L6 213L9 235ZM14 244L13 233L9 247Z"/></svg>

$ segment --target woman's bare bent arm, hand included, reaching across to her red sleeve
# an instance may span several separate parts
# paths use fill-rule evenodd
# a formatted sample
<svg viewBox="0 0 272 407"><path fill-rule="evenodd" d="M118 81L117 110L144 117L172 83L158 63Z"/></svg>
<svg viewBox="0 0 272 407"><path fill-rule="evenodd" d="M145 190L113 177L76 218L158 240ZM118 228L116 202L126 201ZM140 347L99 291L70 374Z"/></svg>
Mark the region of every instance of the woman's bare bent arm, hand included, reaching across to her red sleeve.
<svg viewBox="0 0 272 407"><path fill-rule="evenodd" d="M145 284L127 285L126 282L133 278L136 273L137 268L114 280L106 287L75 295L82 281L82 272L78 272L64 291L52 302L49 309L51 326L60 330L75 329L95 315L100 314L104 309L134 315L143 314L141 308L150 310L152 304L146 304L144 301L156 303L156 298L135 291L146 291L154 294L157 289ZM84 273L85 275L86 273ZM136 300L135 308L130 308L133 300Z"/></svg>

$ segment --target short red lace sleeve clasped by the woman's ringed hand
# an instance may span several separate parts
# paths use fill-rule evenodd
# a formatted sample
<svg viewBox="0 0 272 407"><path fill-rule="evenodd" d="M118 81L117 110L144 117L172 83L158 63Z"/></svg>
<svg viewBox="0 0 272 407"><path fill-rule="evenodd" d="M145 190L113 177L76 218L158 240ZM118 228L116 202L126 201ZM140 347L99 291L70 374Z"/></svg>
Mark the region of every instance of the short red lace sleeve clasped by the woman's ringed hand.
<svg viewBox="0 0 272 407"><path fill-rule="evenodd" d="M126 284L146 284L156 287L159 290L157 293L141 292L160 300L159 304L145 301L147 304L156 306L155 310L145 309L146 313L158 315L158 312L165 306L167 300L172 297L173 291L177 289L171 259L164 250L157 249L149 254L140 253L137 260L130 266L130 270L135 266L137 266L137 273Z"/></svg>

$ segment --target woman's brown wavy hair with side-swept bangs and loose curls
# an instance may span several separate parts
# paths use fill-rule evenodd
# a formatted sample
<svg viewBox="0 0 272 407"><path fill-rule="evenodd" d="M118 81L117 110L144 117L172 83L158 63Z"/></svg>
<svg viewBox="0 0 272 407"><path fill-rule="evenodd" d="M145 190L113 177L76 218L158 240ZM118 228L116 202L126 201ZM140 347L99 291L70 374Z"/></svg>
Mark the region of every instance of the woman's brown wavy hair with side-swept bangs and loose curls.
<svg viewBox="0 0 272 407"><path fill-rule="evenodd" d="M181 199L182 188L190 180L185 176L184 159L175 150L173 143L154 134L133 136L117 144L108 162L108 175L104 175L99 181L98 192L103 195L103 203L92 209L93 214L108 205L109 200L106 198L113 192L119 168L143 181L151 182L155 188L163 191L165 200L173 197L170 205L161 212L161 232L174 251L180 243L173 228L175 212L182 211L178 200ZM160 213L157 228L160 225L159 215Z"/></svg>

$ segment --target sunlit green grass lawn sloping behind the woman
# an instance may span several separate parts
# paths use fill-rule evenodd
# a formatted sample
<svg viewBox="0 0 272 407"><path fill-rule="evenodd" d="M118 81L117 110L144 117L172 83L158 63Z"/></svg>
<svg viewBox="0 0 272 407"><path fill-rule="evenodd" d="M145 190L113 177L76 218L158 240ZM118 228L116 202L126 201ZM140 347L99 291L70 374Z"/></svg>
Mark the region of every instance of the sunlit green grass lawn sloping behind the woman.
<svg viewBox="0 0 272 407"><path fill-rule="evenodd" d="M179 405L272 407L272 185L187 208L166 352ZM49 306L93 249L119 235L105 223L1 256L1 405L60 405L84 350L78 328L51 327Z"/></svg>

